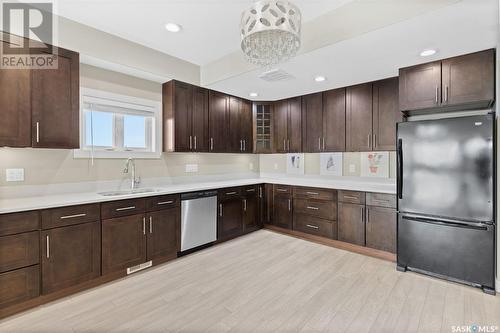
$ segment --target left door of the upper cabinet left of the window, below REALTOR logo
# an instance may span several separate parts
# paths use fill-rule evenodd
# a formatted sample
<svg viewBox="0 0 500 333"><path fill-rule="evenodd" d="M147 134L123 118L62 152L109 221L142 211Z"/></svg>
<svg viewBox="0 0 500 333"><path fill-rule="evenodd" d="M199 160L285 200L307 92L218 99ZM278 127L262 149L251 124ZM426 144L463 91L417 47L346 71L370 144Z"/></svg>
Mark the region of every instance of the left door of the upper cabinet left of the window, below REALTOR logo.
<svg viewBox="0 0 500 333"><path fill-rule="evenodd" d="M30 71L0 70L0 147L31 147Z"/></svg>

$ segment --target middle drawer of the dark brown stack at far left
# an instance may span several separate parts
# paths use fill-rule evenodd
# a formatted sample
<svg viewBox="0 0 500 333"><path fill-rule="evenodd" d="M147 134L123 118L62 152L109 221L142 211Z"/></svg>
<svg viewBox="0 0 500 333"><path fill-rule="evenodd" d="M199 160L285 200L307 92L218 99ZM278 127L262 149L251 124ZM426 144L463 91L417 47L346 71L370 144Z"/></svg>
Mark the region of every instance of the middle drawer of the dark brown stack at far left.
<svg viewBox="0 0 500 333"><path fill-rule="evenodd" d="M0 273L38 264L39 244L38 231L0 237Z"/></svg>

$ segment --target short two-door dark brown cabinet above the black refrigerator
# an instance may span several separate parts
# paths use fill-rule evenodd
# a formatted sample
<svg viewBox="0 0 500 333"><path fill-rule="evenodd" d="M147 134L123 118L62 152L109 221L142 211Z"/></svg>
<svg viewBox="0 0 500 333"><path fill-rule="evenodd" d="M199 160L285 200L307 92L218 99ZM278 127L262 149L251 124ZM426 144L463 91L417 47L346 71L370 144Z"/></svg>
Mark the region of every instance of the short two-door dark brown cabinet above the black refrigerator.
<svg viewBox="0 0 500 333"><path fill-rule="evenodd" d="M495 50L399 70L401 111L467 110L493 105Z"/></svg>

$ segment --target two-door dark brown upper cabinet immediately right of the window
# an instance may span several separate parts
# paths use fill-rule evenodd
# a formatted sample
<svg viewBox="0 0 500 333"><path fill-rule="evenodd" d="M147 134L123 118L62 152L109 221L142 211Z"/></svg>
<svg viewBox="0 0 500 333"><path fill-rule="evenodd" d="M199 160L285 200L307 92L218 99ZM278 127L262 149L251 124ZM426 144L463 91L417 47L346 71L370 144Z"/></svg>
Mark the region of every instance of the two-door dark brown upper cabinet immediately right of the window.
<svg viewBox="0 0 500 333"><path fill-rule="evenodd" d="M163 150L208 151L208 91L180 81L163 84Z"/></svg>

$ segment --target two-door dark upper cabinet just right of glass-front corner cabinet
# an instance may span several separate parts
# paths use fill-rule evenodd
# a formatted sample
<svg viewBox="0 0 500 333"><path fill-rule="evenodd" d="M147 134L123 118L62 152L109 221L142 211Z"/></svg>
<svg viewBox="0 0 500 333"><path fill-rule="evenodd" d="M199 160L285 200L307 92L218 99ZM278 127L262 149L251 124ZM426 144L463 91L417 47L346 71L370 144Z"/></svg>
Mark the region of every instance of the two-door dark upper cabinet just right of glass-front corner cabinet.
<svg viewBox="0 0 500 333"><path fill-rule="evenodd" d="M294 97L274 104L274 149L276 153L302 151L302 98Z"/></svg>

